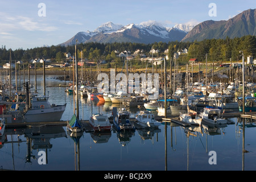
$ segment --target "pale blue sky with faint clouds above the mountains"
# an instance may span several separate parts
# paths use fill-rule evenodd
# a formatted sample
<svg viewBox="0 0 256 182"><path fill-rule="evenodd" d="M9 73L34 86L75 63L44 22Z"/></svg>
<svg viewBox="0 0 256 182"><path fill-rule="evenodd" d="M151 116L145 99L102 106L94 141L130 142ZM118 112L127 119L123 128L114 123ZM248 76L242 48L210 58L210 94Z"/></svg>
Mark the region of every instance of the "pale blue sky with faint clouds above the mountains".
<svg viewBox="0 0 256 182"><path fill-rule="evenodd" d="M0 0L0 3L0 46L7 49L57 45L77 32L93 31L106 22L125 26L153 20L172 27L176 23L228 20L256 7L255 0ZM42 10L39 3L46 5L45 16L38 15ZM216 16L209 16L210 3L216 4Z"/></svg>

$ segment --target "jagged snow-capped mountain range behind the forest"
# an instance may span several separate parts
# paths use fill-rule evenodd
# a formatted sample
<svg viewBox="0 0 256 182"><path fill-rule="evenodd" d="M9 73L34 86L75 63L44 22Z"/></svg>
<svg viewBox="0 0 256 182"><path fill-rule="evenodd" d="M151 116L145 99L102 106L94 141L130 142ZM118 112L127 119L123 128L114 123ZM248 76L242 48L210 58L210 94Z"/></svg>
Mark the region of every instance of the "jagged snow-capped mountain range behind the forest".
<svg viewBox="0 0 256 182"><path fill-rule="evenodd" d="M170 42L180 41L187 35L190 26L182 24L168 28L155 21L142 22L139 24L114 24L107 22L96 28L94 31L79 32L71 39L60 44L61 46L69 46L76 43L99 42L136 42L136 43L154 43L154 42Z"/></svg>

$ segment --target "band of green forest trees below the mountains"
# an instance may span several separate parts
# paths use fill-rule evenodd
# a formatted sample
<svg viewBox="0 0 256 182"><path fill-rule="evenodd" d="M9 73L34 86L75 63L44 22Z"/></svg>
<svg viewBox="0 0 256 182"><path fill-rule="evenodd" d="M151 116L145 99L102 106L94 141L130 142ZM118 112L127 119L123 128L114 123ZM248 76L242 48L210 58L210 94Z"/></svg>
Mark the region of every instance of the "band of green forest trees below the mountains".
<svg viewBox="0 0 256 182"><path fill-rule="evenodd" d="M245 57L256 57L256 37L252 35L242 36L241 38L226 38L226 39L205 39L197 42L155 42L151 44L143 43L81 43L77 45L78 57L92 61L106 60L109 62L115 61L116 63L122 62L121 57L117 57L115 51L123 52L130 51L133 53L135 50L143 50L144 55L149 56L151 49L158 49L159 53L155 56L165 56L164 51L168 48L168 56L174 57L175 52L187 48L188 54L179 56L176 61L180 65L186 64L189 59L197 58L197 60L204 62L205 55L208 55L209 61L222 61L226 62L241 60L241 53ZM64 53L71 53L75 55L75 46L51 46L51 47L36 47L30 49L6 49L5 46L0 48L0 64L5 64L10 60L29 61L31 59L54 59L57 62L65 60ZM140 56L137 56L139 61ZM139 63L138 63L139 64Z"/></svg>

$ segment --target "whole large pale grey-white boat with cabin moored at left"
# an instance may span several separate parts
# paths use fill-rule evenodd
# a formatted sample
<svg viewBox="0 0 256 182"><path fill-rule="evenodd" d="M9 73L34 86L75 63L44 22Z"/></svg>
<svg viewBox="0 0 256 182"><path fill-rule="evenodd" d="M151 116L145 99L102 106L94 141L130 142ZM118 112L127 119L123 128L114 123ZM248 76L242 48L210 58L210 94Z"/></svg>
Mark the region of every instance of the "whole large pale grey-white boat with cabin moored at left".
<svg viewBox="0 0 256 182"><path fill-rule="evenodd" d="M26 122L48 122L60 121L66 104L49 104L49 96L31 97L31 108L28 108L23 114Z"/></svg>

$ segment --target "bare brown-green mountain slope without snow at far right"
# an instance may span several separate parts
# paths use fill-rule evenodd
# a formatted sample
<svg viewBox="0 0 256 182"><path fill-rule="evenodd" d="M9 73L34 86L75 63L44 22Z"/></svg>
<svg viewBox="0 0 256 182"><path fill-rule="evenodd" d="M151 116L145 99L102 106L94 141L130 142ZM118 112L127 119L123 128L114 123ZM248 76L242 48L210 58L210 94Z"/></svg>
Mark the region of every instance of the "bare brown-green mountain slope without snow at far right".
<svg viewBox="0 0 256 182"><path fill-rule="evenodd" d="M207 20L197 24L181 40L183 42L201 41L204 39L240 38L245 35L256 35L256 9L249 9L229 20Z"/></svg>

